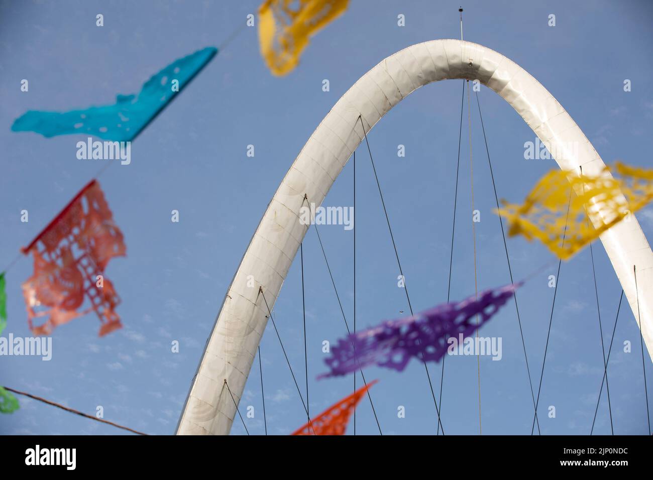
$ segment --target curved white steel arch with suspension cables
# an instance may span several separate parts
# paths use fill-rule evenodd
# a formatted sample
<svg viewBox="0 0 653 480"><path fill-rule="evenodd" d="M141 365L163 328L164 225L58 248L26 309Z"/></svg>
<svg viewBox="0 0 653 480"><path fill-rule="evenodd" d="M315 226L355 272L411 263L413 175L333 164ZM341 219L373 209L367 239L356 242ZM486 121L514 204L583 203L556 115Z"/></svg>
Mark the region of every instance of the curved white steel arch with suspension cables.
<svg viewBox="0 0 653 480"><path fill-rule="evenodd" d="M177 434L228 434L267 323L308 226L299 221L304 195L319 205L364 138L404 97L438 80L480 80L505 99L539 136L560 168L600 174L599 154L560 103L503 55L462 40L432 40L387 57L364 74L328 112L272 197L236 271L182 411ZM571 148L577 142L577 148ZM601 212L597 212L601 215ZM653 253L634 217L601 235L637 318L637 266L643 337L653 355ZM254 287L247 286L247 277Z"/></svg>

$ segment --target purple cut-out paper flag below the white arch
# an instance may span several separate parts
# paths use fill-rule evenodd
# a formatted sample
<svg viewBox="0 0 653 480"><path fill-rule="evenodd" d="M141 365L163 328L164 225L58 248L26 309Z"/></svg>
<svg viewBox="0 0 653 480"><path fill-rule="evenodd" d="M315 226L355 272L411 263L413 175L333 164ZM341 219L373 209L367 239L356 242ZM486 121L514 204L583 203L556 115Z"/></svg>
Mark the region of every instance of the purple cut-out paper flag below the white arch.
<svg viewBox="0 0 653 480"><path fill-rule="evenodd" d="M341 338L325 360L330 372L318 378L343 376L369 365L401 372L412 358L437 362L447 352L449 338L469 336L483 326L520 285L486 290L462 302L440 304L417 315L385 321Z"/></svg>

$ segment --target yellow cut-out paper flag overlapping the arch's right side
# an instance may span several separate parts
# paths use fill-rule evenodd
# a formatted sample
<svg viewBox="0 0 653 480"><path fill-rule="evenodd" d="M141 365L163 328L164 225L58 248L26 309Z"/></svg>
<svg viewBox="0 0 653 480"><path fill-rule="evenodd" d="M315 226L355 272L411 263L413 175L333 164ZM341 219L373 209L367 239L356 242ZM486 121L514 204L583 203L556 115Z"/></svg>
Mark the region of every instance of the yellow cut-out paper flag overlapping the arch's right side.
<svg viewBox="0 0 653 480"><path fill-rule="evenodd" d="M653 199L653 170L619 162L612 170L614 177L605 175L607 167L599 176L552 170L537 182L524 204L502 201L495 213L508 220L509 236L537 238L558 258L569 259Z"/></svg>

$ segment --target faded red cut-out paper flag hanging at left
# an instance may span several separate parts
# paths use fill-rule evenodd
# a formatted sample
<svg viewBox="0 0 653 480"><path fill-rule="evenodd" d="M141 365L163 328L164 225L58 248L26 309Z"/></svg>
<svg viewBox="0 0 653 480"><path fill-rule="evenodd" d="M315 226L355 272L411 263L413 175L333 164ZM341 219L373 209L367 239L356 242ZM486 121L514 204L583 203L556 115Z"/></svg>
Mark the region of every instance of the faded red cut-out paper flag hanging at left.
<svg viewBox="0 0 653 480"><path fill-rule="evenodd" d="M34 274L22 287L35 335L49 335L57 325L91 311L102 324L99 336L122 327L114 311L120 298L104 268L113 257L125 256L126 247L96 180L22 251L34 257Z"/></svg>

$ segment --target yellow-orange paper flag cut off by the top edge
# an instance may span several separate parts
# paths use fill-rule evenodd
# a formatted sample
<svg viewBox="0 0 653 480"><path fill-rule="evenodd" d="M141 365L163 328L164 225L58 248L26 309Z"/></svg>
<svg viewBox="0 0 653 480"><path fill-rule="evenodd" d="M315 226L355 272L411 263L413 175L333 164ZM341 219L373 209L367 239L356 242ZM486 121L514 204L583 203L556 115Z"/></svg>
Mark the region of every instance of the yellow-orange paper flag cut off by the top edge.
<svg viewBox="0 0 653 480"><path fill-rule="evenodd" d="M265 0L259 7L261 55L275 75L291 72L308 39L347 10L349 0Z"/></svg>

